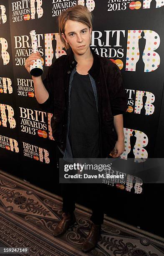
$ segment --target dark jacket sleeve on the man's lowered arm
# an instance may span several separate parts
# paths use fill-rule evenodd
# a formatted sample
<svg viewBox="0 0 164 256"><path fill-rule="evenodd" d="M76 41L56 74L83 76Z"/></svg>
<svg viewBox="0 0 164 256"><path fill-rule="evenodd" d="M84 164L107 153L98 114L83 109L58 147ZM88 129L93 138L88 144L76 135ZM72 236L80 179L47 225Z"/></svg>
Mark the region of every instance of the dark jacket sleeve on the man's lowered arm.
<svg viewBox="0 0 164 256"><path fill-rule="evenodd" d="M128 96L124 88L121 71L114 62L112 62L108 79L112 114L123 114L128 108Z"/></svg>

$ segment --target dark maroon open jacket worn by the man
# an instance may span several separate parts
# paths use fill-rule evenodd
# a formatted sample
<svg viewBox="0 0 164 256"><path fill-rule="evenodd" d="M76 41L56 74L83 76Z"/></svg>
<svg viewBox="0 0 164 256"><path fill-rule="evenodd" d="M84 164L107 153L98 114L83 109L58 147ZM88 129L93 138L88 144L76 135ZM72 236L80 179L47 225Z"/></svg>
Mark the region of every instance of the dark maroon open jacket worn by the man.
<svg viewBox="0 0 164 256"><path fill-rule="evenodd" d="M88 73L96 83L101 127L101 157L106 157L117 140L114 115L126 112L128 97L119 67L111 60L96 54L93 49L91 52L94 60ZM43 84L49 97L44 103L39 104L42 110L53 113L51 118L53 138L62 151L66 148L69 79L76 64L71 49L70 54L60 56L48 67Z"/></svg>

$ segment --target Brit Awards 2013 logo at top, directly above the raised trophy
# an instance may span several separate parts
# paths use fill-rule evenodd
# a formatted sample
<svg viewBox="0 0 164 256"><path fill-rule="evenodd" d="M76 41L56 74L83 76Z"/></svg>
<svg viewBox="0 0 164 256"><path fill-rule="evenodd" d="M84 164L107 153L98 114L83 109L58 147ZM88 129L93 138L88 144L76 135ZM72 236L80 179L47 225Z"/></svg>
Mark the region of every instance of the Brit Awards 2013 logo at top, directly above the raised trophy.
<svg viewBox="0 0 164 256"><path fill-rule="evenodd" d="M42 0L22 0L11 3L12 21L39 19L43 16Z"/></svg>

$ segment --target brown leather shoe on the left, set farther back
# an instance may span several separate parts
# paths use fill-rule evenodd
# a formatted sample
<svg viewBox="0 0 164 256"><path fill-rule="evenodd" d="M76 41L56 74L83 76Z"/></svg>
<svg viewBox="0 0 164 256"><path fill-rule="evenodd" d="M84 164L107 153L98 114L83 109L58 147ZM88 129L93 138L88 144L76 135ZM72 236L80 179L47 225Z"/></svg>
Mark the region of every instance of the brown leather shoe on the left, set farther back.
<svg viewBox="0 0 164 256"><path fill-rule="evenodd" d="M66 233L70 225L73 225L75 222L76 222L76 216L74 212L73 212L72 218L69 212L68 213L64 212L63 219L58 223L58 225L56 225L53 232L53 236L57 237L57 236L63 235L64 233Z"/></svg>

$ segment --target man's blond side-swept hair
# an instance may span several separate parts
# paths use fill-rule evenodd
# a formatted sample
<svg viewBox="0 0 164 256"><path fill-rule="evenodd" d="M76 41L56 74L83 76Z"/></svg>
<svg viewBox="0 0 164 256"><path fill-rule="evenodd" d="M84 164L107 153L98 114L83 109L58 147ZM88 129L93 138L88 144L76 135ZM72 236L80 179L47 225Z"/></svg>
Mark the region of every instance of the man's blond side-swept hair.
<svg viewBox="0 0 164 256"><path fill-rule="evenodd" d="M67 20L75 20L77 22L83 23L91 28L92 31L92 20L93 16L88 11L88 8L83 5L75 5L67 10L63 11L60 16L58 16L58 27L59 27L59 35L64 47L69 49L69 44L64 40L62 33L65 35L65 25ZM91 44L91 41L90 41Z"/></svg>

